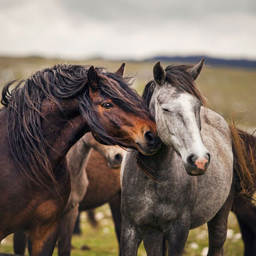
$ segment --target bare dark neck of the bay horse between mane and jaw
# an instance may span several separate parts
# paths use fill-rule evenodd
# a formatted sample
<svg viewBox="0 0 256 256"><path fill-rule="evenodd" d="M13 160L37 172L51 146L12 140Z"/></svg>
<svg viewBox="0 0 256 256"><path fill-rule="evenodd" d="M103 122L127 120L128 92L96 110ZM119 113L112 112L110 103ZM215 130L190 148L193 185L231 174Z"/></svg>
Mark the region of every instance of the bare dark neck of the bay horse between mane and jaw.
<svg viewBox="0 0 256 256"><path fill-rule="evenodd" d="M70 148L85 133L89 132L86 120L80 115L76 101L63 101L64 112L55 103L43 104L41 112L42 129L49 145L47 154L50 163L55 169L69 152Z"/></svg>

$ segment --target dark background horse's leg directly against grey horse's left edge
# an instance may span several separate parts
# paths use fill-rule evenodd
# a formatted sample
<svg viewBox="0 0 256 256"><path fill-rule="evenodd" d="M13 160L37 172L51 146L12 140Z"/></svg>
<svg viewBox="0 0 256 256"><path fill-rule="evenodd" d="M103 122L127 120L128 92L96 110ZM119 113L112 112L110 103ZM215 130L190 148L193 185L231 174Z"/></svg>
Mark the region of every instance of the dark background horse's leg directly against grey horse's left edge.
<svg viewBox="0 0 256 256"><path fill-rule="evenodd" d="M120 237L121 237L121 225L122 225L122 216L121 216L121 191L114 198L109 201L109 205L112 212L112 217L115 223L116 236L119 246L119 256L121 255L120 248Z"/></svg>

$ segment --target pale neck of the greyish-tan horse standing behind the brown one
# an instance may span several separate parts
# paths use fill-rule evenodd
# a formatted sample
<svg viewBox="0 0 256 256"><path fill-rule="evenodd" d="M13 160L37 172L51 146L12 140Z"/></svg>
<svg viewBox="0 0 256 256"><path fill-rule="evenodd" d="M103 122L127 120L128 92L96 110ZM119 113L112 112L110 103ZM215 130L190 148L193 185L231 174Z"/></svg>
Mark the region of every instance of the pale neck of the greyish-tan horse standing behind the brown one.
<svg viewBox="0 0 256 256"><path fill-rule="evenodd" d="M76 142L67 154L67 159L70 169L76 173L83 170L86 166L88 156L90 154L91 146L87 145L83 137Z"/></svg>

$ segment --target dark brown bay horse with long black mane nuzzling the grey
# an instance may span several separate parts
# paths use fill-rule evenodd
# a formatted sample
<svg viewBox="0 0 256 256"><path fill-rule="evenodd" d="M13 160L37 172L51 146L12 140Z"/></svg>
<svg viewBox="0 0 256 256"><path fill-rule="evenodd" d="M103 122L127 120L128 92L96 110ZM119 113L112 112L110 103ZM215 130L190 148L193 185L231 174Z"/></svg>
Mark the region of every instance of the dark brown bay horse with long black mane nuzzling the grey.
<svg viewBox="0 0 256 256"><path fill-rule="evenodd" d="M66 155L91 131L105 144L154 154L160 140L138 94L116 73L57 65L3 89L0 241L28 230L32 255L51 255L70 194ZM13 189L15 188L15 189Z"/></svg>

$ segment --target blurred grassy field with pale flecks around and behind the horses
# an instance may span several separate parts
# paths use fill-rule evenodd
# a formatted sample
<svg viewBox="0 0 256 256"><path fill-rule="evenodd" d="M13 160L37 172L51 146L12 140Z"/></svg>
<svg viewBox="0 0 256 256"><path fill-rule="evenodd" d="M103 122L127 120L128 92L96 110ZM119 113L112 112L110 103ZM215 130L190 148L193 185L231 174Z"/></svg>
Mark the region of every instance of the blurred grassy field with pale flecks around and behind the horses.
<svg viewBox="0 0 256 256"><path fill-rule="evenodd" d="M15 78L27 78L31 73L55 63L63 62L57 59L44 58L0 58L0 89L4 84ZM103 66L109 70L116 70L120 62L107 60L69 61L66 63L80 63ZM134 87L141 94L144 84L152 79L153 62L127 62L125 75L136 75ZM162 63L165 67L167 63ZM230 119L233 111L237 111L238 126L253 131L256 128L256 70L230 69L205 67L197 81L201 92L206 96L209 107L226 119ZM103 256L117 255L118 246L114 232L111 212L108 205L97 209L99 228L93 229L87 222L86 215L82 215L82 235L73 237L72 255ZM228 238L225 243L225 255L239 256L243 254L243 243L236 221L230 214L228 225ZM91 249L80 250L82 245ZM207 252L206 225L191 230L187 240L185 255L206 255ZM0 252L12 252L12 236L6 238ZM54 255L57 255L55 250ZM140 246L139 255L145 255L143 246Z"/></svg>

